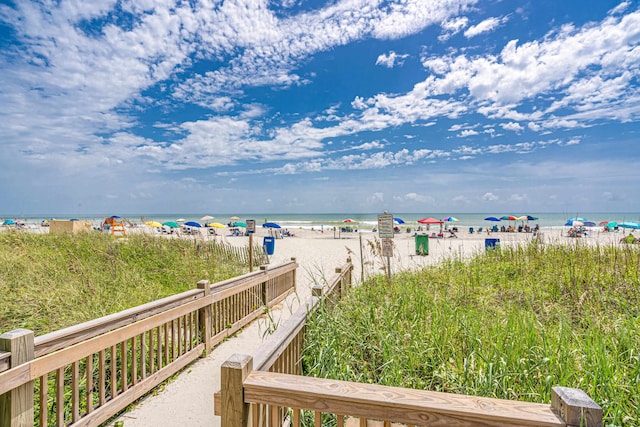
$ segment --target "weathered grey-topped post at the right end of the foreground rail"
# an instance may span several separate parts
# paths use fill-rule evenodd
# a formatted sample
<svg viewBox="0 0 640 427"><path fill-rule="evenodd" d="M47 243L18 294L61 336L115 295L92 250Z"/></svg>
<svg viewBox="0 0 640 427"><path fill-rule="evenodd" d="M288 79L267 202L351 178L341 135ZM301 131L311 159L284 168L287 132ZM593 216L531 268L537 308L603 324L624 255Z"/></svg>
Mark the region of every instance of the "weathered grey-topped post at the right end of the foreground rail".
<svg viewBox="0 0 640 427"><path fill-rule="evenodd" d="M552 387L551 408L567 427L602 426L602 408L580 389Z"/></svg>

